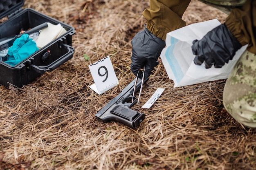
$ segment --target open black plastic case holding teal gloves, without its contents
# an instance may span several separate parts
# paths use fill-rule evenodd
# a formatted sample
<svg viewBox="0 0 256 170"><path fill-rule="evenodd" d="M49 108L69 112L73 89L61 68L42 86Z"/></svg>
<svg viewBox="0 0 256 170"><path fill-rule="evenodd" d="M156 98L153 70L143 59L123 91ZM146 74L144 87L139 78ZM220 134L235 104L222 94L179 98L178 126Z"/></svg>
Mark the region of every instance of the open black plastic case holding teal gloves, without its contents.
<svg viewBox="0 0 256 170"><path fill-rule="evenodd" d="M8 20L0 24L0 38L18 35L21 29L27 30L44 22L50 22L54 25L60 23L67 32L16 66L10 66L0 61L0 84L7 87L13 85L21 88L45 71L53 71L70 60L74 54L72 35L75 34L75 31L72 26L34 9L22 9L23 5L24 0L0 0L0 18L8 16Z"/></svg>

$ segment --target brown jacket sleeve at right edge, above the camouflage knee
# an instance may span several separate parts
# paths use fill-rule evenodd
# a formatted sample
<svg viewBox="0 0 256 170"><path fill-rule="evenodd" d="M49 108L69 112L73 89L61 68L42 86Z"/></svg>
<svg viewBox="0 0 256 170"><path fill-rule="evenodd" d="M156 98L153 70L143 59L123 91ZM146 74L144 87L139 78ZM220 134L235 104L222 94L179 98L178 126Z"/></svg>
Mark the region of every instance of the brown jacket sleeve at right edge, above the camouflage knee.
<svg viewBox="0 0 256 170"><path fill-rule="evenodd" d="M256 54L256 0L247 0L241 9L233 9L226 19L226 26L240 44Z"/></svg>

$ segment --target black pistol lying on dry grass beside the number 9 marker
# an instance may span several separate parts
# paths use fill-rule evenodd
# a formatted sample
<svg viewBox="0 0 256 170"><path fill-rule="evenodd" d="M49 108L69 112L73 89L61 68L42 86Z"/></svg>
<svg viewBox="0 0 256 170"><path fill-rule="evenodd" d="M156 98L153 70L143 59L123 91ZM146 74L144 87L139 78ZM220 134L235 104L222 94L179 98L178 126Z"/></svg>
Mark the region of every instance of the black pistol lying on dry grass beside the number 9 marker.
<svg viewBox="0 0 256 170"><path fill-rule="evenodd" d="M148 81L144 79L144 83ZM110 121L117 121L132 129L139 127L139 124L145 119L143 113L139 113L130 109L136 102L137 98L134 97L132 102L132 94L134 91L136 79L134 79L128 86L126 86L117 97L113 98L106 106L97 111L95 116L104 123ZM141 86L141 79L137 79L135 93L139 91Z"/></svg>

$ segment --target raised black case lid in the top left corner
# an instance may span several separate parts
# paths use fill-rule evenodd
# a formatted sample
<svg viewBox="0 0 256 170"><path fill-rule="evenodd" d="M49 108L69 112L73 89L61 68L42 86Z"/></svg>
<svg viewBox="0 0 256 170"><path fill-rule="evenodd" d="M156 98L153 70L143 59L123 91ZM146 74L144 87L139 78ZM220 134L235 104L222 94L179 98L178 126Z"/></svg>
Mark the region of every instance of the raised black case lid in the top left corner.
<svg viewBox="0 0 256 170"><path fill-rule="evenodd" d="M0 19L13 13L24 5L25 0L0 0Z"/></svg>

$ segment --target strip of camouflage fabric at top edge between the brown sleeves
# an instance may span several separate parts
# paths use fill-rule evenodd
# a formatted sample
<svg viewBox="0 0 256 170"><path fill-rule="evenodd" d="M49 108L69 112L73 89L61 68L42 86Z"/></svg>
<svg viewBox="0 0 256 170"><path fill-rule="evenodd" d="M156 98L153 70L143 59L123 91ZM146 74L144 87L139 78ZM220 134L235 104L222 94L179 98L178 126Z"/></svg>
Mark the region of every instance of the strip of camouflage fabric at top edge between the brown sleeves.
<svg viewBox="0 0 256 170"><path fill-rule="evenodd" d="M234 8L241 8L245 4L246 0L199 0L212 7L219 9L220 11L229 14Z"/></svg>

